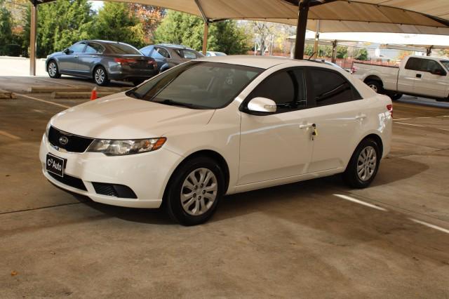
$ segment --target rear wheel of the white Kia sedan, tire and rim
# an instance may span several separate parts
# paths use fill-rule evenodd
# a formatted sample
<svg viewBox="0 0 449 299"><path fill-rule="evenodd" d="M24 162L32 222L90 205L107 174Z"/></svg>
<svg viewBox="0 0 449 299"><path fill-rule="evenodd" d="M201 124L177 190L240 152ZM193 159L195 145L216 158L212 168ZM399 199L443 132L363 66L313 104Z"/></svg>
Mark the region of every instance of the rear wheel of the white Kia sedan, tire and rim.
<svg viewBox="0 0 449 299"><path fill-rule="evenodd" d="M358 189L368 187L377 174L379 164L380 148L377 142L370 138L362 140L343 173L344 182Z"/></svg>

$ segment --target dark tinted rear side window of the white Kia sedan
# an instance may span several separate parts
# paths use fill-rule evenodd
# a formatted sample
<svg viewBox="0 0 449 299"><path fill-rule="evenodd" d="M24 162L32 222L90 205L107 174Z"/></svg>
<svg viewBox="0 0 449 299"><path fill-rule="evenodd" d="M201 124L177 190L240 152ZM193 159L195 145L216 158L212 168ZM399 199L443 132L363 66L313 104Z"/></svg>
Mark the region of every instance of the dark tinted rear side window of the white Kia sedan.
<svg viewBox="0 0 449 299"><path fill-rule="evenodd" d="M349 81L337 72L313 68L310 77L317 107L361 99Z"/></svg>

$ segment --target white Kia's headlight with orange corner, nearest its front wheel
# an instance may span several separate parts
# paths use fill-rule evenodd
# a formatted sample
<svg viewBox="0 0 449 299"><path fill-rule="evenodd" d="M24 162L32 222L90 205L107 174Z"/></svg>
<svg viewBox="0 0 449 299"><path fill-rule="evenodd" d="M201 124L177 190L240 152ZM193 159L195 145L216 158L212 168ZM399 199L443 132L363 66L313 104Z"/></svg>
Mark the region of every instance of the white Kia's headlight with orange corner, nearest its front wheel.
<svg viewBox="0 0 449 299"><path fill-rule="evenodd" d="M95 139L88 147L88 152L102 152L107 156L123 156L159 150L167 138L150 138L136 140Z"/></svg>

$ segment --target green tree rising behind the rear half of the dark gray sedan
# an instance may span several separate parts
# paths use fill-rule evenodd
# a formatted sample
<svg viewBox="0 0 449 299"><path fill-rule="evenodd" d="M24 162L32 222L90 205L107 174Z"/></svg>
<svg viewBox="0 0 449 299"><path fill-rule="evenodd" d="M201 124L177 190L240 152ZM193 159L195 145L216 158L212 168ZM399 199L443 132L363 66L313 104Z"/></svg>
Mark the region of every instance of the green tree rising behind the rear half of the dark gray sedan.
<svg viewBox="0 0 449 299"><path fill-rule="evenodd" d="M145 46L145 32L139 19L130 13L128 4L105 2L98 12L93 38L121 41L137 48Z"/></svg>

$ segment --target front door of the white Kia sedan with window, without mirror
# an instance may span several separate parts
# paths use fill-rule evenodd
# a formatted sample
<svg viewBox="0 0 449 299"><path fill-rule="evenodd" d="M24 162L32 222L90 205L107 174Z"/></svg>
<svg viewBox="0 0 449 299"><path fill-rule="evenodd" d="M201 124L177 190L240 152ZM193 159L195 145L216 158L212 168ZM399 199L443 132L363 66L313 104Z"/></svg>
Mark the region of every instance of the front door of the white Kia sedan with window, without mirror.
<svg viewBox="0 0 449 299"><path fill-rule="evenodd" d="M243 103L269 98L276 102L276 113L255 115L243 108L238 185L307 173L313 128L304 81L304 69L283 69L264 79Z"/></svg>

